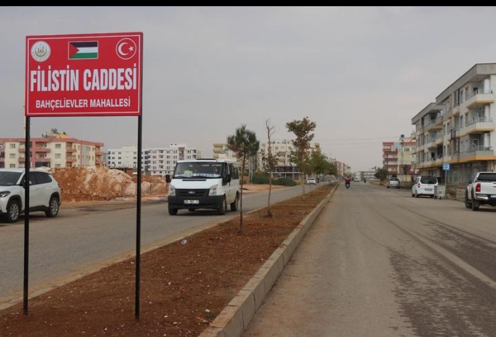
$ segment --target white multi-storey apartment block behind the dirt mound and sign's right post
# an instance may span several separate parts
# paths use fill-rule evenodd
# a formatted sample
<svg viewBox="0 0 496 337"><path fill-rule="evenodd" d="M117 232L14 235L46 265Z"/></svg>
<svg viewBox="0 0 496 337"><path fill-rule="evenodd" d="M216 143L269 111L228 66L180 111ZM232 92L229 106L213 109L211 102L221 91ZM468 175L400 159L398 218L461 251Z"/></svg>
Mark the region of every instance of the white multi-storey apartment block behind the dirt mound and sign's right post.
<svg viewBox="0 0 496 337"><path fill-rule="evenodd" d="M138 150L134 145L126 145L121 149L109 149L107 151L107 166L118 169L136 169L138 167L137 154ZM185 144L170 144L169 147L149 147L141 152L143 171L159 176L172 174L177 161L200 157L200 150L189 148Z"/></svg>

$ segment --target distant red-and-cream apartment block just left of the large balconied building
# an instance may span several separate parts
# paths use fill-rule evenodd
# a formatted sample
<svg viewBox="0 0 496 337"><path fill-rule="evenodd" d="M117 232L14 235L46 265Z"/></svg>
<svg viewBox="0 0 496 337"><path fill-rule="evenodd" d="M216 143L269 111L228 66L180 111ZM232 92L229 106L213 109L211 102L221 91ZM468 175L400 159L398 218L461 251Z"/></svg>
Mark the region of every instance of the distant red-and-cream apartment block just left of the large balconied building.
<svg viewBox="0 0 496 337"><path fill-rule="evenodd" d="M388 178L396 175L401 181L411 181L416 173L415 139L406 138L403 134L399 141L382 142L382 167L388 171Z"/></svg>

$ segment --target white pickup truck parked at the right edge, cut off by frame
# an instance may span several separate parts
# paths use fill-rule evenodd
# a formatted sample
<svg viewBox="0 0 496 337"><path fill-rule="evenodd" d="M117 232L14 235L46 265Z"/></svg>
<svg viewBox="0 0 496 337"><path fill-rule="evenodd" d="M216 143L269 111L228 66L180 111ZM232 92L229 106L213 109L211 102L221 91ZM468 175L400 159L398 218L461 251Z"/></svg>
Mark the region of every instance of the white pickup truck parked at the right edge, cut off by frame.
<svg viewBox="0 0 496 337"><path fill-rule="evenodd" d="M465 207L474 211L480 205L496 206L496 172L479 172L465 191Z"/></svg>

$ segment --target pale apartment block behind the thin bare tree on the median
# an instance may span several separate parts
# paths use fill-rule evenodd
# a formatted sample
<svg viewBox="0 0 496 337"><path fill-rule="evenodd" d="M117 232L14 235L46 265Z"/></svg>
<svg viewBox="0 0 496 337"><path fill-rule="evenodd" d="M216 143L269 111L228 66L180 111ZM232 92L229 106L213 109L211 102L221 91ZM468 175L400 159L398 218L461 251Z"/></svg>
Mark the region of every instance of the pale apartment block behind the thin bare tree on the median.
<svg viewBox="0 0 496 337"><path fill-rule="evenodd" d="M269 144L261 143L260 149L257 154L257 170L265 171L264 163L262 161L263 154L267 154ZM319 143L311 144L309 153L320 150ZM301 173L298 170L296 163L291 162L291 151L293 151L293 143L287 140L272 141L271 151L278 159L278 165L274 168L274 175L278 177L287 177L293 179L300 179Z"/></svg>

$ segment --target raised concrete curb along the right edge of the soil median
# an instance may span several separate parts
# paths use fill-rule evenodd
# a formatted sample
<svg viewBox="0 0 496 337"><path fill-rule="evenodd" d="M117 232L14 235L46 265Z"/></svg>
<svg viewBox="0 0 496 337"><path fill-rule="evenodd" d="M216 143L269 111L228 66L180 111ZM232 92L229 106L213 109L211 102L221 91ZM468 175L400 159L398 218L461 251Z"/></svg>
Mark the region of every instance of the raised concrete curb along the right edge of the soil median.
<svg viewBox="0 0 496 337"><path fill-rule="evenodd" d="M285 241L282 241L262 267L258 269L253 278L248 281L245 287L238 292L236 297L227 304L227 307L218 314L216 319L210 323L210 326L199 337L242 336L243 331L247 329L255 313L282 273L282 269L284 269L293 252L296 251L303 237L316 221L316 218L329 202L338 186L335 185L326 198L303 218L293 232L287 236Z"/></svg>

